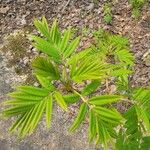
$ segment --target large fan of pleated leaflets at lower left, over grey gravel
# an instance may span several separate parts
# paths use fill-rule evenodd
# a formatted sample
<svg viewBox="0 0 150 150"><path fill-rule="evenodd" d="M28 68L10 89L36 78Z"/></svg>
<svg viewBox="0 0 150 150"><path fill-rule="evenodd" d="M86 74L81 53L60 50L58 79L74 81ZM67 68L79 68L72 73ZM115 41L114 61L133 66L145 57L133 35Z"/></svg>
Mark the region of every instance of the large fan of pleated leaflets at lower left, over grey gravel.
<svg viewBox="0 0 150 150"><path fill-rule="evenodd" d="M11 100L4 104L9 108L3 111L5 117L17 116L10 131L17 132L21 137L31 134L46 112L47 126L50 126L52 115L52 95L48 89L21 86L16 92L10 93Z"/></svg>

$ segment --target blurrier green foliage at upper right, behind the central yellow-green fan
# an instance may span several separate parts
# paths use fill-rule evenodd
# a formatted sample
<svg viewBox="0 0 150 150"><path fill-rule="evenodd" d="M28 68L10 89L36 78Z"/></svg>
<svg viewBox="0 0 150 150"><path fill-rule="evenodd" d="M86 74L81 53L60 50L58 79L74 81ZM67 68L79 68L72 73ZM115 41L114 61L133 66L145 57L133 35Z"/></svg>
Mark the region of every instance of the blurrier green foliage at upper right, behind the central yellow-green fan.
<svg viewBox="0 0 150 150"><path fill-rule="evenodd" d="M94 32L96 46L93 51L101 59L109 62L111 76L117 76L116 86L119 92L129 92L128 74L132 73L134 56L129 50L129 41L120 35L114 35L100 29Z"/></svg>

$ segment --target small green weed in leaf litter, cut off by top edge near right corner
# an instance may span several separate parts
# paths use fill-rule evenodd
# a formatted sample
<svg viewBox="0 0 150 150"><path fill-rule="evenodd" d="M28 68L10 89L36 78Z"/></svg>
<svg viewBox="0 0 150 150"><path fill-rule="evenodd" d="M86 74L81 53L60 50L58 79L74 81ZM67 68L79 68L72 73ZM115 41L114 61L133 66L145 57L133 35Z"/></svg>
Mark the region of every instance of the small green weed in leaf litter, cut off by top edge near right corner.
<svg viewBox="0 0 150 150"><path fill-rule="evenodd" d="M139 18L141 14L141 9L147 0L129 0L129 3L132 5L133 16Z"/></svg>

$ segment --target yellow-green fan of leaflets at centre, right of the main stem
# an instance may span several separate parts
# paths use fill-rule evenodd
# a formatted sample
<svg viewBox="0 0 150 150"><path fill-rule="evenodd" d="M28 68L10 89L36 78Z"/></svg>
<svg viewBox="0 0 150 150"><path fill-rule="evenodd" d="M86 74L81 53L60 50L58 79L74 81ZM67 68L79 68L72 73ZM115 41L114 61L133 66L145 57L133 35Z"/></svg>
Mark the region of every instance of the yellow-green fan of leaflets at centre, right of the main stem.
<svg viewBox="0 0 150 150"><path fill-rule="evenodd" d="M88 48L68 60L71 70L70 76L73 81L102 80L107 77L108 64L91 52L92 49Z"/></svg>

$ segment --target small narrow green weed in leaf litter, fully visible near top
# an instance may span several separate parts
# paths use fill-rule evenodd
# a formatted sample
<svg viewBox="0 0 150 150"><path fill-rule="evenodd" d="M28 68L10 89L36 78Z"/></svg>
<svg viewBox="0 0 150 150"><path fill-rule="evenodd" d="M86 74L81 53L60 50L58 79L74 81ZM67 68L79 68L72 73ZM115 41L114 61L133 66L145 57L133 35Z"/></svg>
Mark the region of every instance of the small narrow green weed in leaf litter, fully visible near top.
<svg viewBox="0 0 150 150"><path fill-rule="evenodd" d="M112 9L111 9L111 3L105 3L103 6L103 13L104 13L104 21L107 24L112 23L113 15L112 15Z"/></svg>

